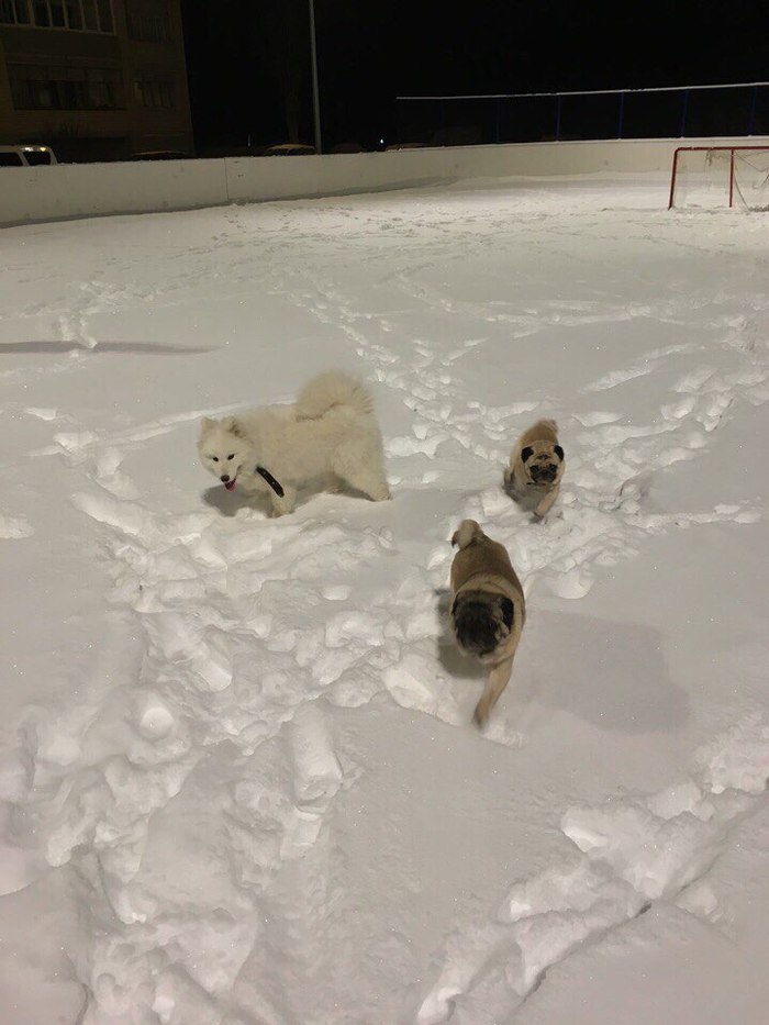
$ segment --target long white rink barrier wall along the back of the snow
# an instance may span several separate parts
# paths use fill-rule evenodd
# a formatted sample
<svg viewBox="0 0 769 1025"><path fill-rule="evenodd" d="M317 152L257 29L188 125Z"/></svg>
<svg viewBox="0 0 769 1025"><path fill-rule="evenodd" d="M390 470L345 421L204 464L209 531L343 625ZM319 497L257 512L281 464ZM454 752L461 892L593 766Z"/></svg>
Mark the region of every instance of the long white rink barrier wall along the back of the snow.
<svg viewBox="0 0 769 1025"><path fill-rule="evenodd" d="M669 174L677 146L769 137L517 143L334 156L0 168L0 225L409 188L455 178ZM665 199L665 197L662 197Z"/></svg>

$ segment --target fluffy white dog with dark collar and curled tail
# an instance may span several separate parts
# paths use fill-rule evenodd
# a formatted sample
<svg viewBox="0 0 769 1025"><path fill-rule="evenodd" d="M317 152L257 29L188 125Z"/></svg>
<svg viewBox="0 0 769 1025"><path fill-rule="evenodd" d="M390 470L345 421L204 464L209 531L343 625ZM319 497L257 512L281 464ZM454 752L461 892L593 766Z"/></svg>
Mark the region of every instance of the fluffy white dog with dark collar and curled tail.
<svg viewBox="0 0 769 1025"><path fill-rule="evenodd" d="M341 480L372 501L390 498L374 402L341 370L319 374L292 405L267 405L223 420L207 416L200 460L227 491L269 494L272 514L290 513L297 490Z"/></svg>

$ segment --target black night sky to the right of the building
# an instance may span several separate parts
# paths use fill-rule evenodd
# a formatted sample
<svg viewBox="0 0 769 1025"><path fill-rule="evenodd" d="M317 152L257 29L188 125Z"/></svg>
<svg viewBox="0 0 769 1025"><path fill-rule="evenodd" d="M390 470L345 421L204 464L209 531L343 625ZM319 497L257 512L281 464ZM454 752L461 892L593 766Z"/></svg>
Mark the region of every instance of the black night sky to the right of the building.
<svg viewBox="0 0 769 1025"><path fill-rule="evenodd" d="M312 142L308 0L182 0L198 149ZM315 0L324 148L395 142L399 94L769 79L756 0Z"/></svg>

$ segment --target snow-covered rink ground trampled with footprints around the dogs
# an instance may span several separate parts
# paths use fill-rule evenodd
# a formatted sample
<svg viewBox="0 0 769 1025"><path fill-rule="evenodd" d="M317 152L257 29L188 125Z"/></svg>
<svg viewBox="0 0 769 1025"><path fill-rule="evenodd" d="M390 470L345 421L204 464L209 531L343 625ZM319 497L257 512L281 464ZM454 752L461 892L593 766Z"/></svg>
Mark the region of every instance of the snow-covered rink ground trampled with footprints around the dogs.
<svg viewBox="0 0 769 1025"><path fill-rule="evenodd" d="M0 233L3 1025L759 1025L769 222L666 185ZM370 385L391 502L199 419ZM501 489L561 428L560 501ZM486 734L465 516L528 620Z"/></svg>

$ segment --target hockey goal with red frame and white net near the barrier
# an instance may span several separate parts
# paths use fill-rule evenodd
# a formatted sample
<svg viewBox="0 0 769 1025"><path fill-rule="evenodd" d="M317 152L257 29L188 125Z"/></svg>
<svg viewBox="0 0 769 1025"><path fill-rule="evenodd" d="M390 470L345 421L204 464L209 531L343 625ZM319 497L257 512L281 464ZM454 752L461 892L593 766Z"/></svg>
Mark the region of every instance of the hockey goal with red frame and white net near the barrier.
<svg viewBox="0 0 769 1025"><path fill-rule="evenodd" d="M769 210L769 146L681 146L668 209Z"/></svg>

